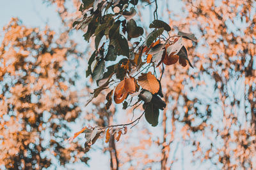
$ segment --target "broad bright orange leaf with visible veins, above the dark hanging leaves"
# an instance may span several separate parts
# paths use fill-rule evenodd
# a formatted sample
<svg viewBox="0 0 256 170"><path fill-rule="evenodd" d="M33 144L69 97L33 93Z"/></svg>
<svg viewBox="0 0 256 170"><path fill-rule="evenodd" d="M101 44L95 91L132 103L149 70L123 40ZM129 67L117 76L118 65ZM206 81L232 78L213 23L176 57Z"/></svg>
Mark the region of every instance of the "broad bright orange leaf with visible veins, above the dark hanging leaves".
<svg viewBox="0 0 256 170"><path fill-rule="evenodd" d="M142 73L141 76L138 77L138 83L142 89L146 89L152 94L156 94L159 90L159 83L151 72L146 74Z"/></svg>

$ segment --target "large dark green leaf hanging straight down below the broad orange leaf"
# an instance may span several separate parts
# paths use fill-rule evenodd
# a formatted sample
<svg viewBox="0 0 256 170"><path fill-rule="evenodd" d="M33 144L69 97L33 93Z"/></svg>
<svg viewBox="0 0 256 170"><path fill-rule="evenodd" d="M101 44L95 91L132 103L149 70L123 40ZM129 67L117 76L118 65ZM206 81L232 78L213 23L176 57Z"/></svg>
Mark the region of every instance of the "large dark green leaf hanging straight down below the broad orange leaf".
<svg viewBox="0 0 256 170"><path fill-rule="evenodd" d="M154 107L154 104L152 102L144 103L143 108L145 110L145 118L147 122L153 127L157 126L159 117L158 108Z"/></svg>

